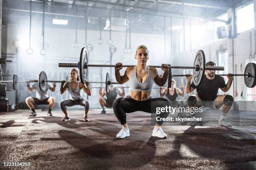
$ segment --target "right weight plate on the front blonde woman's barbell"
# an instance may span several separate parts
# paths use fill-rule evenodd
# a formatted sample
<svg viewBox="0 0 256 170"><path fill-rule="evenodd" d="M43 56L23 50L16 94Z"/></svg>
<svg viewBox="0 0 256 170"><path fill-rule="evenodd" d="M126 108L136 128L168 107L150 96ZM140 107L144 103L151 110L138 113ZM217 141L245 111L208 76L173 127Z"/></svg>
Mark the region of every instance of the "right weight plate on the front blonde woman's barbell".
<svg viewBox="0 0 256 170"><path fill-rule="evenodd" d="M203 50L198 50L194 60L194 67L199 66L200 69L193 69L193 83L195 86L201 84L205 75L205 53Z"/></svg>

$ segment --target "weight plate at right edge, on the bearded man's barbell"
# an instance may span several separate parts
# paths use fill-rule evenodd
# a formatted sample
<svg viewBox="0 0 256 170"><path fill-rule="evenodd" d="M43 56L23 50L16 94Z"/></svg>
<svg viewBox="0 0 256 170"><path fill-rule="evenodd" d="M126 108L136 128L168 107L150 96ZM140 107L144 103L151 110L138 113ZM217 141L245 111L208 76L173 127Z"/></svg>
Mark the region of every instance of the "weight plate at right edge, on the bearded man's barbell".
<svg viewBox="0 0 256 170"><path fill-rule="evenodd" d="M244 76L244 83L249 88L253 88L256 85L255 70L256 70L256 64L253 62L249 62L244 69L244 74L251 75L251 76Z"/></svg>

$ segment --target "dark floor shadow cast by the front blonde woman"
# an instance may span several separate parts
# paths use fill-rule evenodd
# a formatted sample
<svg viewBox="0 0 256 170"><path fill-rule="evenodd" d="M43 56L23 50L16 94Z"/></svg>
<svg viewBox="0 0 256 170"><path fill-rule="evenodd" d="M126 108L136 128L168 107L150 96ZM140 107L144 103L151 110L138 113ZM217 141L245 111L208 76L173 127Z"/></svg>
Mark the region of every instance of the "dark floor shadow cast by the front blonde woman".
<svg viewBox="0 0 256 170"><path fill-rule="evenodd" d="M100 126L100 125L99 125ZM110 125L109 125L110 126ZM113 128L113 125L112 125ZM106 125L102 130L94 130L102 135L108 135ZM116 134L116 131L115 131ZM86 161L93 169L110 169L113 167L120 168L139 168L149 163L156 153L156 142L162 140L160 138L151 137L148 141L128 140L110 138L104 141L98 138L89 138L69 130L59 130L60 138L41 138L41 140L64 140L69 145L77 148L79 151L72 155L87 158ZM95 162L95 159L100 163Z"/></svg>

